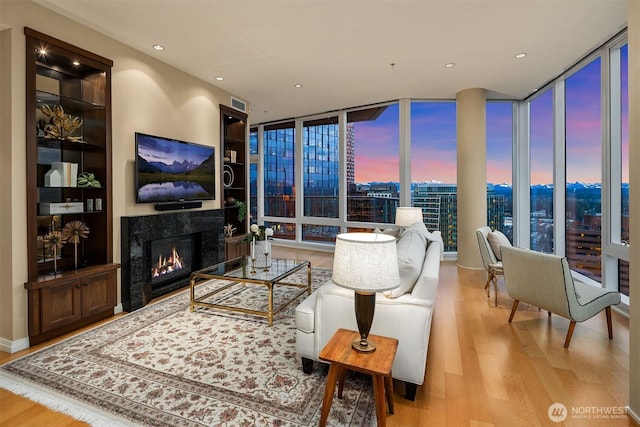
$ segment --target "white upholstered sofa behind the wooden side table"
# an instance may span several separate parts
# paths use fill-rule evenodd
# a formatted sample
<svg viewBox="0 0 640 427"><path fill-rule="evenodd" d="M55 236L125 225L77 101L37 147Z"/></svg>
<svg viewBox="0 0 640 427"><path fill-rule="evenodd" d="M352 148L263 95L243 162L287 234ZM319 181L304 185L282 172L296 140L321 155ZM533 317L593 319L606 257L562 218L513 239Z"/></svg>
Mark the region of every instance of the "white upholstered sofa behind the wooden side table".
<svg viewBox="0 0 640 427"><path fill-rule="evenodd" d="M371 334L398 339L392 376L404 381L409 400L424 382L443 248L439 232L429 233L422 223L407 228L398 238L404 289L376 294ZM416 260L421 263L415 265ZM408 283L411 280L415 282ZM320 361L318 354L338 328L358 330L354 292L328 280L296 308L296 350L304 372L311 373L313 361Z"/></svg>

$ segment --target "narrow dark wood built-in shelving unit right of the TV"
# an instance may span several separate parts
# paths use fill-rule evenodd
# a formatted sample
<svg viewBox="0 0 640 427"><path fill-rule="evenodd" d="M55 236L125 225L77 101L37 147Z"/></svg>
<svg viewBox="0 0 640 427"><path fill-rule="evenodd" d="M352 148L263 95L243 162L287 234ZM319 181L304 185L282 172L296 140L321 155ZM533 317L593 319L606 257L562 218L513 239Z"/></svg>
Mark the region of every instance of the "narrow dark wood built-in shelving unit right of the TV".
<svg viewBox="0 0 640 427"><path fill-rule="evenodd" d="M220 131L225 225L235 228L234 235L225 241L225 258L231 259L246 255L248 247L242 241L248 232L249 216L247 115L221 105Z"/></svg>

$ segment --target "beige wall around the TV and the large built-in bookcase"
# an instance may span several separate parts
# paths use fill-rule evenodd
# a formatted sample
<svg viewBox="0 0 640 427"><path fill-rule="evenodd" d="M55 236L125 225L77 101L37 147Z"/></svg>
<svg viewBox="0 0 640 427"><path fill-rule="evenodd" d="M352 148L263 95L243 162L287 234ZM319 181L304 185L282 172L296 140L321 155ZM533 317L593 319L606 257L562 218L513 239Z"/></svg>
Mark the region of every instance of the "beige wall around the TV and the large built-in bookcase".
<svg viewBox="0 0 640 427"><path fill-rule="evenodd" d="M0 259L12 260L0 283L0 350L15 351L27 337L25 37L24 27L113 60L113 258L120 261L120 217L153 214L151 205L136 205L134 197L134 133L195 142L216 147L220 154L219 104L229 105L231 94L170 67L30 1L0 0L2 60L0 88ZM155 51L152 55L160 55ZM10 70L10 72L7 72ZM5 89L10 88L10 97ZM8 108L11 114L5 114ZM8 165L8 166L7 166ZM219 191L219 189L218 189ZM8 201L8 202L7 202ZM5 206L10 206L7 211ZM220 207L220 195L203 209ZM118 275L119 276L119 275ZM120 301L118 283L118 301ZM7 298L5 298L7 297Z"/></svg>

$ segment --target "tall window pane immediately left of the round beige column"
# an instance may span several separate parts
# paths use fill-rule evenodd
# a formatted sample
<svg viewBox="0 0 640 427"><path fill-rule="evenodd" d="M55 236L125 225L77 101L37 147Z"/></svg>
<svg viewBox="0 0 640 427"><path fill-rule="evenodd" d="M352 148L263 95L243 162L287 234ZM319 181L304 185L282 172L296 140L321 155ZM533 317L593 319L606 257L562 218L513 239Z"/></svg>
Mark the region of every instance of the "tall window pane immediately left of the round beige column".
<svg viewBox="0 0 640 427"><path fill-rule="evenodd" d="M456 103L411 102L411 204L457 250Z"/></svg>

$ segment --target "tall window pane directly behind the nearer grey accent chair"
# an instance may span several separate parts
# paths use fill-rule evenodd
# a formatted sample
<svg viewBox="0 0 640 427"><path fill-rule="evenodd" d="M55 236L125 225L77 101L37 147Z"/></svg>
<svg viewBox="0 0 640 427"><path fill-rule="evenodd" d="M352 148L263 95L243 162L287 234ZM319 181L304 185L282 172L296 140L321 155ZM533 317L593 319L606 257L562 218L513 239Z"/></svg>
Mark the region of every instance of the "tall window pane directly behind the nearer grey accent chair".
<svg viewBox="0 0 640 427"><path fill-rule="evenodd" d="M565 252L571 268L600 281L602 266L601 60L565 80Z"/></svg>

